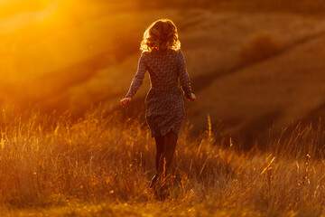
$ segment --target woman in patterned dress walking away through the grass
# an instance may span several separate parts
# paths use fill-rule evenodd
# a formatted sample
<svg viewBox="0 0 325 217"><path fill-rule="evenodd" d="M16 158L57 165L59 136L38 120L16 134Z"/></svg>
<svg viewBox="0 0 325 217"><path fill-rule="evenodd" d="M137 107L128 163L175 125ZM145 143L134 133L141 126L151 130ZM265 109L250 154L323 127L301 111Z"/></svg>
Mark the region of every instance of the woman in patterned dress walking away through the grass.
<svg viewBox="0 0 325 217"><path fill-rule="evenodd" d="M142 55L135 78L125 99L121 100L121 106L125 107L142 85L144 73L149 71L151 88L145 98L145 118L157 150L157 174L153 176L151 187L156 185L158 177L166 177L172 163L181 121L185 116L182 93L190 101L196 99L190 89L190 78L180 48L177 28L171 20L160 19L151 24L141 42Z"/></svg>

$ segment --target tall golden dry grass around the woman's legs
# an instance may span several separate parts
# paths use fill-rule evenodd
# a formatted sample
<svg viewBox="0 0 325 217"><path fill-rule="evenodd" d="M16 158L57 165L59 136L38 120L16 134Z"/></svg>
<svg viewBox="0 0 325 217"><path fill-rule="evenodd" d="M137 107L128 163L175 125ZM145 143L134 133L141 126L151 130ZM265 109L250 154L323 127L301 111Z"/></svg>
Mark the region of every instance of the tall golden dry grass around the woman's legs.
<svg viewBox="0 0 325 217"><path fill-rule="evenodd" d="M4 110L1 119L1 207L160 203L148 188L154 140L139 118L95 109L78 120L32 110L15 117ZM194 207L196 215L235 208L315 216L324 208L321 126L270 131L264 150L248 152L217 137L210 121L200 137L190 137L190 127L183 124L173 159L168 211L181 206Z"/></svg>

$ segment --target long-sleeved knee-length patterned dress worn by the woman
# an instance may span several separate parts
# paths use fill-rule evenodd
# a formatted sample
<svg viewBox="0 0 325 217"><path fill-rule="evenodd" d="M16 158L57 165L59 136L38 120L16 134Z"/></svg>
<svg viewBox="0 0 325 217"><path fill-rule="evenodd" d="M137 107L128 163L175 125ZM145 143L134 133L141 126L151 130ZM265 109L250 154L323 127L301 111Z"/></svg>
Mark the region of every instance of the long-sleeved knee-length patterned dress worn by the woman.
<svg viewBox="0 0 325 217"><path fill-rule="evenodd" d="M143 52L125 97L135 96L143 83L145 71L149 71L151 80L151 88L145 98L145 118L151 136L164 136L170 130L178 136L185 117L182 94L187 99L191 98L190 77L181 50Z"/></svg>

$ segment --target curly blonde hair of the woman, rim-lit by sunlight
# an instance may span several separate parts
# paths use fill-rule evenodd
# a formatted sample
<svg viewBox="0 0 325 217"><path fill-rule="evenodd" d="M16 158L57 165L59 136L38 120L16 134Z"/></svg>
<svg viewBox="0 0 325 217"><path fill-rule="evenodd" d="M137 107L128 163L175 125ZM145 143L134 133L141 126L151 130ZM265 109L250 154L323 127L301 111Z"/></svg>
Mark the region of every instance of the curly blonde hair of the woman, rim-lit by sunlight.
<svg viewBox="0 0 325 217"><path fill-rule="evenodd" d="M142 52L153 50L166 51L181 49L181 42L176 25L170 19L159 19L151 24L144 32L144 38L140 45Z"/></svg>

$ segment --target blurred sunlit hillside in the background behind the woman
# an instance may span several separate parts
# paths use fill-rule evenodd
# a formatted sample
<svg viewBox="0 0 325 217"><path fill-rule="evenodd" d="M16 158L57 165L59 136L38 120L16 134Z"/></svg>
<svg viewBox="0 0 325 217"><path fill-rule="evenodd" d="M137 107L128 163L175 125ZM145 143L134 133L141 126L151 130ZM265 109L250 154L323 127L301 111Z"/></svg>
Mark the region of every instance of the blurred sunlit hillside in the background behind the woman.
<svg viewBox="0 0 325 217"><path fill-rule="evenodd" d="M70 109L76 116L99 103L108 112L120 109L145 28L168 17L179 27L198 98L186 102L193 134L204 130L208 115L213 127L222 123L224 133L247 142L272 126L317 122L325 113L324 18L271 5L250 13L253 5L239 10L232 3L223 5L227 10L135 4L117 13L105 4L84 2L75 10L58 2L3 16L1 103ZM140 108L144 118L149 87L146 76L128 116Z"/></svg>

